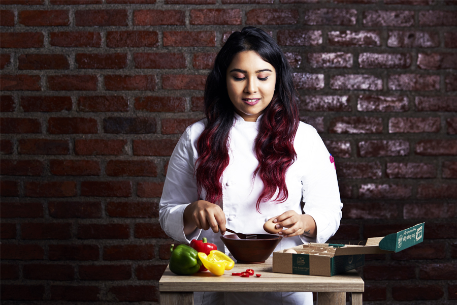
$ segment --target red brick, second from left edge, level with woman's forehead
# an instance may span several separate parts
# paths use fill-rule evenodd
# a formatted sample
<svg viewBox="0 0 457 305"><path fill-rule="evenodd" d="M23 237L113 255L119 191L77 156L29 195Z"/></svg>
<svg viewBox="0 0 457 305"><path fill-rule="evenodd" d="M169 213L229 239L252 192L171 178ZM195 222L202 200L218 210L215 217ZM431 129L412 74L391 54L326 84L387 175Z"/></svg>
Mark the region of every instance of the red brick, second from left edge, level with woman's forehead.
<svg viewBox="0 0 457 305"><path fill-rule="evenodd" d="M63 54L22 54L17 57L19 70L66 70L70 69Z"/></svg>

